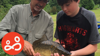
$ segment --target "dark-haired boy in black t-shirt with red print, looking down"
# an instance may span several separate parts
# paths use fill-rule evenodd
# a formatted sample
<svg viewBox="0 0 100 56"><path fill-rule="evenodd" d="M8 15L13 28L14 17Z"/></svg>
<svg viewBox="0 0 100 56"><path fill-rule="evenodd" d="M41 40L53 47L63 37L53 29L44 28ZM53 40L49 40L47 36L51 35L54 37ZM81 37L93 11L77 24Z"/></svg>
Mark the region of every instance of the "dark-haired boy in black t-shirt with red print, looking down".
<svg viewBox="0 0 100 56"><path fill-rule="evenodd" d="M79 7L80 0L57 0L62 11L57 15L56 42L71 56L94 56L100 36L93 12ZM59 56L55 53L54 56Z"/></svg>

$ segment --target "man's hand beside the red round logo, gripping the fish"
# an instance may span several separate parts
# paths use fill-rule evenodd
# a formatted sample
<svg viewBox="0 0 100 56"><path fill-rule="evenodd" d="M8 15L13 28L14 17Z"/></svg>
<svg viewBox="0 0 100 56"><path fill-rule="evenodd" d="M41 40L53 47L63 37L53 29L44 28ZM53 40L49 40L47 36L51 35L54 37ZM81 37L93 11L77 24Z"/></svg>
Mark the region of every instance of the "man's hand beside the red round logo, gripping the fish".
<svg viewBox="0 0 100 56"><path fill-rule="evenodd" d="M35 53L33 48L32 48L32 44L29 43L28 41L24 40L24 48L23 48L23 51L29 55L29 56L40 56L39 53Z"/></svg>

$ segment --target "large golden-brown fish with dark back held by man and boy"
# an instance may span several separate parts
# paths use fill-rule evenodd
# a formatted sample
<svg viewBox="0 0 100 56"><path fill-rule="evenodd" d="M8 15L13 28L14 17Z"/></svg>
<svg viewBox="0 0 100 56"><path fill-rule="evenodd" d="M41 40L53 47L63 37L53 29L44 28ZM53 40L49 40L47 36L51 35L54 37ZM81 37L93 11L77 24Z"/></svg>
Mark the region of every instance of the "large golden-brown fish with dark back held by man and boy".
<svg viewBox="0 0 100 56"><path fill-rule="evenodd" d="M61 44L49 40L45 34L40 39L34 41L32 47L34 52L39 52L41 56L51 56L54 53L58 53L60 56L62 54L64 56L71 55Z"/></svg>

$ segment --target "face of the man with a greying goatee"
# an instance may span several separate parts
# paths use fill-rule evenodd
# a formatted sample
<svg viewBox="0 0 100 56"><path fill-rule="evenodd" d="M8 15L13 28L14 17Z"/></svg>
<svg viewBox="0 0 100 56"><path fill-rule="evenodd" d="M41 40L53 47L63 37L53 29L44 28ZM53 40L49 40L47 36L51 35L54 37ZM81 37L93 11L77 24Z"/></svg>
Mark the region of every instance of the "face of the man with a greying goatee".
<svg viewBox="0 0 100 56"><path fill-rule="evenodd" d="M47 4L47 1L48 0L31 0L32 10L41 11Z"/></svg>

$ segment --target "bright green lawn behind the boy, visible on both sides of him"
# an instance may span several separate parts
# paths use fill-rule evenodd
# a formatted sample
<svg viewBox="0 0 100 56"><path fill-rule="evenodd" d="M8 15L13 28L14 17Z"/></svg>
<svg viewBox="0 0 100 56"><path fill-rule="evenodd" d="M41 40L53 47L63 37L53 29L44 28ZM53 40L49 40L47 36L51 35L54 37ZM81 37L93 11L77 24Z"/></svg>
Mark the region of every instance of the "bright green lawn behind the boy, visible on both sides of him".
<svg viewBox="0 0 100 56"><path fill-rule="evenodd" d="M96 9L96 10L91 10L91 11L95 13L95 16L96 16L97 21L100 21L100 8L99 9ZM52 16L53 21L54 21L54 33L55 33L55 29L56 29L56 16L57 16L57 14L51 15L51 16ZM98 31L100 33L100 29ZM55 41L55 40L56 39L53 38L53 41ZM95 56L100 56L100 43L98 44L98 49L95 52Z"/></svg>

